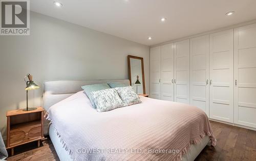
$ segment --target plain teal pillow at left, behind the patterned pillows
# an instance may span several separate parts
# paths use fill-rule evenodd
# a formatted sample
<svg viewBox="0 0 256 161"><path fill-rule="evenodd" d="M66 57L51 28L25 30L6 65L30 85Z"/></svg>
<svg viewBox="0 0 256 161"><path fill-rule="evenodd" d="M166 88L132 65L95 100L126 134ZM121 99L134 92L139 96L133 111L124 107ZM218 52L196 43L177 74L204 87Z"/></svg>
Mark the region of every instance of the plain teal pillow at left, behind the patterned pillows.
<svg viewBox="0 0 256 161"><path fill-rule="evenodd" d="M90 99L93 107L96 108L96 105L95 105L95 103L93 101L93 98L91 96L91 92L109 89L110 86L108 84L94 84L94 85L82 86L81 88L84 90L84 92L86 92L86 95Z"/></svg>

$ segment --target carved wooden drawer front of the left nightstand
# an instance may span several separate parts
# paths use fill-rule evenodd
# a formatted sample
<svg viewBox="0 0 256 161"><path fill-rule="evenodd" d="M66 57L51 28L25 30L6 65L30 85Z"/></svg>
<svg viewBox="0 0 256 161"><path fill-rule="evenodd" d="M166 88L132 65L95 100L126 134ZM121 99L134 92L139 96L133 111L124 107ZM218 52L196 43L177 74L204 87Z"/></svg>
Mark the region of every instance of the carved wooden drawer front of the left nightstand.
<svg viewBox="0 0 256 161"><path fill-rule="evenodd" d="M40 138L42 138L40 121L19 124L10 130L10 146L38 140Z"/></svg>

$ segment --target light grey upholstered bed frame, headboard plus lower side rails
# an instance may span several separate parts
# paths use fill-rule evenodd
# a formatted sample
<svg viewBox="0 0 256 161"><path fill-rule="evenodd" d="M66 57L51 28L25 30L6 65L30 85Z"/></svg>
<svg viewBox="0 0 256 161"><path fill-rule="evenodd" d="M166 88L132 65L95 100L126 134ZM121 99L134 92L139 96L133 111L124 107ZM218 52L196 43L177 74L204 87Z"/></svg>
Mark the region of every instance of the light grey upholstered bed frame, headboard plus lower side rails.
<svg viewBox="0 0 256 161"><path fill-rule="evenodd" d="M101 84L101 83L107 83L107 82L120 82L125 85L130 85L129 79L123 79L123 80L92 80L92 81L46 81L44 86L44 108L46 111L49 110L49 108L65 99L69 96L82 91L81 86L84 85L92 85L92 84ZM60 160L72 160L69 157L69 154L65 149L63 149L63 145L60 143L60 138L56 135L54 130L51 128L48 128L49 122L45 122L45 132L48 132L49 129L49 136L52 140L52 143L54 145L54 148L59 156ZM188 152L186 155L182 155L182 160L190 161L194 160L198 154L203 150L203 148L209 143L209 137L206 136L203 138L202 142L197 145L191 145L188 149Z"/></svg>

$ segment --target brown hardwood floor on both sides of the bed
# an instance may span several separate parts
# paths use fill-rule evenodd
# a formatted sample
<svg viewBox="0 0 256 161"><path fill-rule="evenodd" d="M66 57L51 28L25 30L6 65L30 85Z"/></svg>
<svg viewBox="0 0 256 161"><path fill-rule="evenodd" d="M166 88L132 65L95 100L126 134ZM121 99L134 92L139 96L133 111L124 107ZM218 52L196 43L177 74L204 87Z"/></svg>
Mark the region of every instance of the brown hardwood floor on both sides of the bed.
<svg viewBox="0 0 256 161"><path fill-rule="evenodd" d="M210 122L217 145L208 144L196 160L256 160L256 131ZM15 148L15 155L7 160L59 160L50 139L36 147L36 142L19 146Z"/></svg>

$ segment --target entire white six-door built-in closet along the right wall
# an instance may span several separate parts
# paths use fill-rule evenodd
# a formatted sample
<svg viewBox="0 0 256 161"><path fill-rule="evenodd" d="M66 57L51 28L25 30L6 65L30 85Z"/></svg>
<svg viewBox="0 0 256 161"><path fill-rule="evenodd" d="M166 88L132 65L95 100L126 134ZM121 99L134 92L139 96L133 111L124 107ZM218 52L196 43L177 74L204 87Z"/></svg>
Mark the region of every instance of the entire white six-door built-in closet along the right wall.
<svg viewBox="0 0 256 161"><path fill-rule="evenodd" d="M152 47L150 97L256 128L256 24Z"/></svg>

